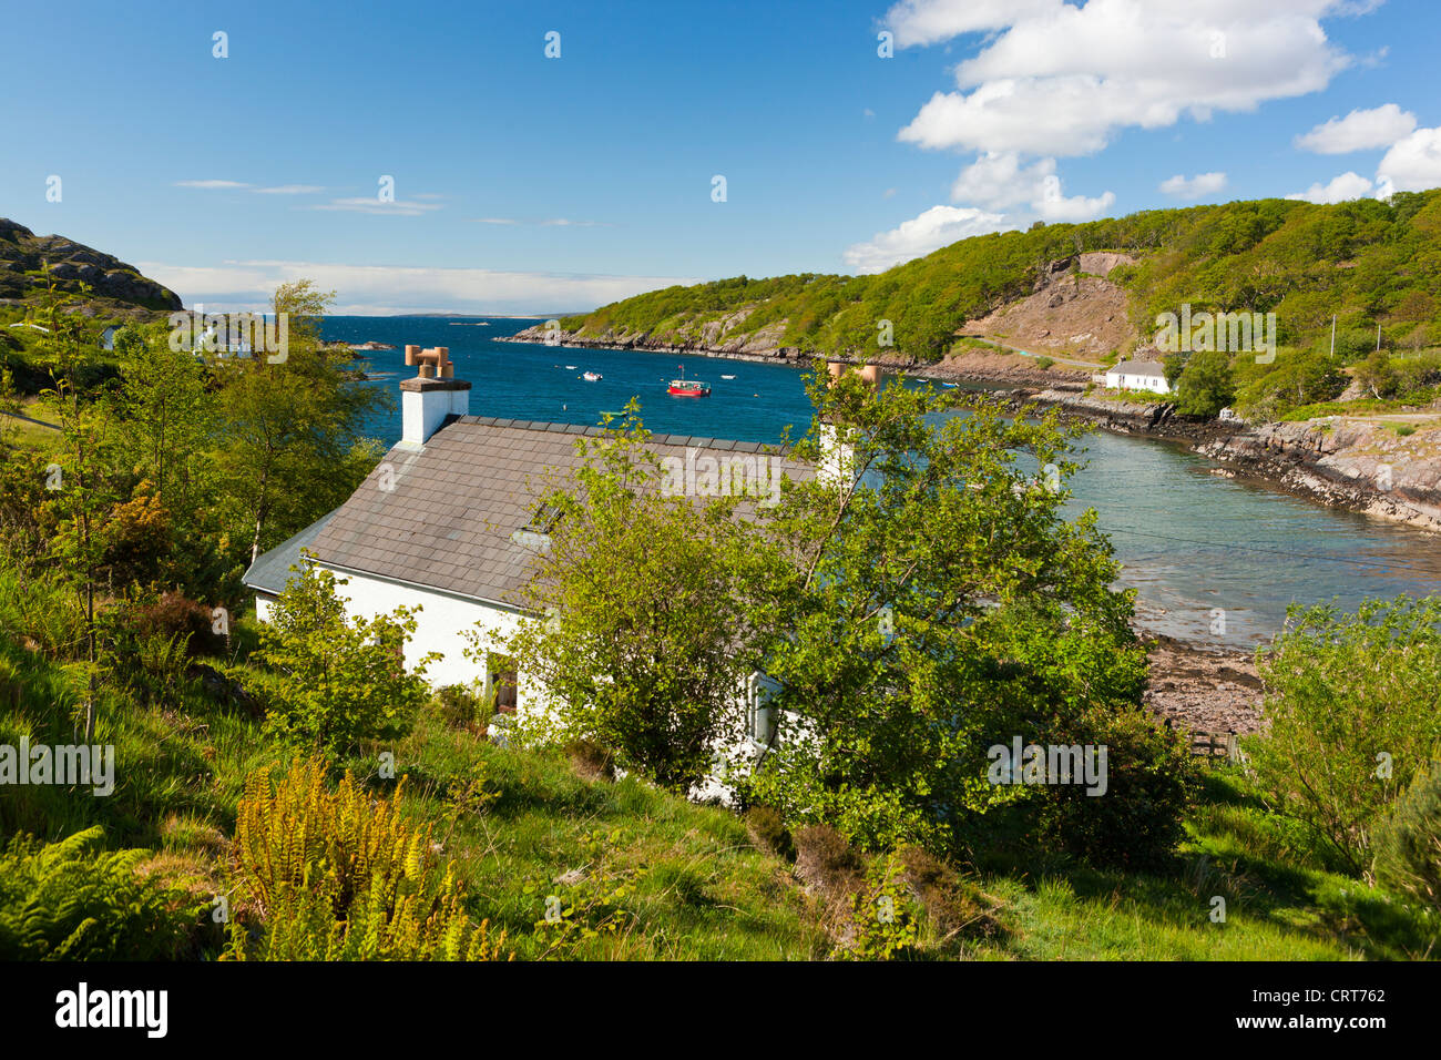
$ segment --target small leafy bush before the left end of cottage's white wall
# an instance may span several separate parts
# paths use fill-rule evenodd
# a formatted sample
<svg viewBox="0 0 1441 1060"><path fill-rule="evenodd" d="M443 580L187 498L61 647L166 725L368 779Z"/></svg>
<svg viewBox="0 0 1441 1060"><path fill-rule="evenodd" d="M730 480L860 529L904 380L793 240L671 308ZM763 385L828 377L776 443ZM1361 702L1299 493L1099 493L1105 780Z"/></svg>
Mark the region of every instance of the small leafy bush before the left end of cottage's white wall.
<svg viewBox="0 0 1441 1060"><path fill-rule="evenodd" d="M274 731L321 751L402 737L431 695L424 676L432 656L405 668L419 607L350 620L336 596L344 584L303 561L272 604L256 652L281 676L269 711Z"/></svg>

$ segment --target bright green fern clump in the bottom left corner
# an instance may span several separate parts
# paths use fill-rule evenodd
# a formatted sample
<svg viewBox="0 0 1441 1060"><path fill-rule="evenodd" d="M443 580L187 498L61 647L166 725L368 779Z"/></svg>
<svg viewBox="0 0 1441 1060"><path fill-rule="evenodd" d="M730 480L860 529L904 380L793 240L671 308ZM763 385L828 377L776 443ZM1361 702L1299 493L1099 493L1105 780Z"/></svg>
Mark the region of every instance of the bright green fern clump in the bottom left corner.
<svg viewBox="0 0 1441 1060"><path fill-rule="evenodd" d="M143 875L151 851L105 851L101 828L0 852L0 960L174 960L208 903Z"/></svg>

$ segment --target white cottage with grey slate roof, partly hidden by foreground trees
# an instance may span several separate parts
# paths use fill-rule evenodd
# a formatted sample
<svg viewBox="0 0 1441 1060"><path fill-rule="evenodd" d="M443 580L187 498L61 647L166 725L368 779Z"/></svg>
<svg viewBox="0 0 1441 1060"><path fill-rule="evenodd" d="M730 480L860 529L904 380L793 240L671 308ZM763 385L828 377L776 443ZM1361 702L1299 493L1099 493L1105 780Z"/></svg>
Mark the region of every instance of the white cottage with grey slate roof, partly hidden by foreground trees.
<svg viewBox="0 0 1441 1060"><path fill-rule="evenodd" d="M340 508L261 555L245 573L264 622L307 549L320 567L347 581L340 594L353 616L375 616L419 604L406 645L414 666L429 652L434 686L471 684L497 695L501 711L537 710L537 691L504 656L501 642L526 611L520 590L548 526L535 525L537 492L548 473L579 464L575 443L602 434L575 424L470 415L471 385L452 375L444 348L406 346L406 363L421 374L401 382L402 437ZM808 477L808 464L746 441L653 434L648 447L672 466L772 464ZM677 464L677 461L680 461ZM491 630L467 655L467 633ZM772 720L765 708L772 682L754 675L745 689L751 738L765 743Z"/></svg>

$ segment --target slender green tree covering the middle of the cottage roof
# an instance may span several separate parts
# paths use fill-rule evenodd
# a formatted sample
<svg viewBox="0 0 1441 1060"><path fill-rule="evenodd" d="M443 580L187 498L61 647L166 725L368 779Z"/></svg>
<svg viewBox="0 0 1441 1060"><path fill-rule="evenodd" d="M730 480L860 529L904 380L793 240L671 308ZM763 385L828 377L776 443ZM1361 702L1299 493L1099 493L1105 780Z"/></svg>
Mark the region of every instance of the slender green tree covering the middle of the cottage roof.
<svg viewBox="0 0 1441 1060"><path fill-rule="evenodd" d="M758 665L738 623L754 534L738 496L666 487L634 411L612 436L578 441L574 476L548 483L523 599L539 617L506 649L555 705L548 736L597 740L686 792L716 741L739 737L736 691Z"/></svg>

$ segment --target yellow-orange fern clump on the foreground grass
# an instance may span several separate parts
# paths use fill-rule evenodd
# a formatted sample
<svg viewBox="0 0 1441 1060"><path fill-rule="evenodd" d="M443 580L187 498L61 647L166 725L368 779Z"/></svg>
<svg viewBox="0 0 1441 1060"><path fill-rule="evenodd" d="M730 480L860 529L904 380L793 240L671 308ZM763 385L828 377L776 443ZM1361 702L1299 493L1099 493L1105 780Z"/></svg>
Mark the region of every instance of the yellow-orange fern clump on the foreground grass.
<svg viewBox="0 0 1441 1060"><path fill-rule="evenodd" d="M402 779L373 802L347 772L326 786L318 760L297 761L271 786L245 782L232 868L238 907L264 920L258 942L239 919L236 960L490 960L504 936L474 924L452 865L438 865L429 825L401 816Z"/></svg>

